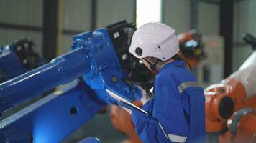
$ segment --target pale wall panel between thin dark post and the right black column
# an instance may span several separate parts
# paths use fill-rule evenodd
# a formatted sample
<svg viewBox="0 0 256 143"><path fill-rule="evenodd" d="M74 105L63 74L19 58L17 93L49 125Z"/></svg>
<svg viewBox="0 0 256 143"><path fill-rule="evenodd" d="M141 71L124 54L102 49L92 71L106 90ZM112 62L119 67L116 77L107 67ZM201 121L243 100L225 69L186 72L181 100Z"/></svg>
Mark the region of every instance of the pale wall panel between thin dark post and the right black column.
<svg viewBox="0 0 256 143"><path fill-rule="evenodd" d="M201 34L219 34L219 5L199 2L198 30Z"/></svg>

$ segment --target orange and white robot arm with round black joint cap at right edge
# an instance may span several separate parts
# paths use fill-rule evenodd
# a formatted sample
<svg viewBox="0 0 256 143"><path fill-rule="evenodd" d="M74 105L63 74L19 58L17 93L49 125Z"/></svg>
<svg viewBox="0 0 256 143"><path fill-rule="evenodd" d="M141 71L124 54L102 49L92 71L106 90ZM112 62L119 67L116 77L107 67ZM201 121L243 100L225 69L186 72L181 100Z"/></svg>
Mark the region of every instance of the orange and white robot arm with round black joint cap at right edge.
<svg viewBox="0 0 256 143"><path fill-rule="evenodd" d="M228 129L227 121L234 112L246 107L256 108L255 61L256 51L244 61L238 71L220 84L206 88L207 133L224 134Z"/></svg>

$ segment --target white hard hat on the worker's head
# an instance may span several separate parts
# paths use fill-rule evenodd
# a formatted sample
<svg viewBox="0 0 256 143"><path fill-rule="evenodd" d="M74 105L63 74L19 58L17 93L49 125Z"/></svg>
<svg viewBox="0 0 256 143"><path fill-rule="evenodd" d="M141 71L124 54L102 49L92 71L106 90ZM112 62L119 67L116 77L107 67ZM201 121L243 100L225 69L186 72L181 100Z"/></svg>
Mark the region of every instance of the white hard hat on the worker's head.
<svg viewBox="0 0 256 143"><path fill-rule="evenodd" d="M162 23L154 22L140 26L132 36L129 52L141 59L155 57L166 61L179 51L175 30Z"/></svg>

